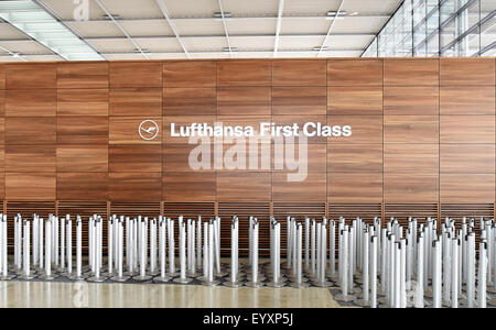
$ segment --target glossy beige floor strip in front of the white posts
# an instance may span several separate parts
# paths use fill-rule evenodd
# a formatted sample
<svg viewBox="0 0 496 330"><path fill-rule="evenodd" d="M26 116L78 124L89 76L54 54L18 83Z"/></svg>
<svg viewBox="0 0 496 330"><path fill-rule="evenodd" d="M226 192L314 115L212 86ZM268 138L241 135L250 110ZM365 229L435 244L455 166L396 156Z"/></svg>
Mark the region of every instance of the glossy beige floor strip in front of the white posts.
<svg viewBox="0 0 496 330"><path fill-rule="evenodd" d="M0 282L0 307L339 307L326 288Z"/></svg>

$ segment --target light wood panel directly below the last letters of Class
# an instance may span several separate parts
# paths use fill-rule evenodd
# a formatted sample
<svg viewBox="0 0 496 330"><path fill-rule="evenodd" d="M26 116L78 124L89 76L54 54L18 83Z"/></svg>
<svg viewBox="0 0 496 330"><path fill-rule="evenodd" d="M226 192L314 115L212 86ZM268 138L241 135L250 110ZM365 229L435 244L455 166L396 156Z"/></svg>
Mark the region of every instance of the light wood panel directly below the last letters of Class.
<svg viewBox="0 0 496 330"><path fill-rule="evenodd" d="M382 172L382 144L328 144L328 172Z"/></svg>

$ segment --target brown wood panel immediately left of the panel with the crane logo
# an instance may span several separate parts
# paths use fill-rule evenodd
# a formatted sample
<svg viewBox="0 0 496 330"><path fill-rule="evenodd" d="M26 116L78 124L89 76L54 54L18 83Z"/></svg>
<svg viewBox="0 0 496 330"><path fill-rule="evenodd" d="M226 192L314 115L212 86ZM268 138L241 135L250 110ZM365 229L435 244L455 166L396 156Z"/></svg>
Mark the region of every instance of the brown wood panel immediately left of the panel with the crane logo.
<svg viewBox="0 0 496 330"><path fill-rule="evenodd" d="M107 144L108 117L74 116L57 118L58 144Z"/></svg>

